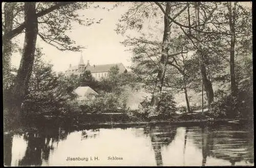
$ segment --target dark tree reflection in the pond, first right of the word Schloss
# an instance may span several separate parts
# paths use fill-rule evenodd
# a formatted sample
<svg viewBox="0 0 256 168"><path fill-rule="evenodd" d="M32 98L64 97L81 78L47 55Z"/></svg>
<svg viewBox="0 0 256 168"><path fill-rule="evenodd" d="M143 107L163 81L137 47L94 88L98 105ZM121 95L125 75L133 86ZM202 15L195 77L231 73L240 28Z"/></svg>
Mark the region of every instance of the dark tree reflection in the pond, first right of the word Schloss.
<svg viewBox="0 0 256 168"><path fill-rule="evenodd" d="M151 137L151 143L155 152L157 166L162 166L162 147L168 146L176 135L176 127L170 126L151 126L144 128L144 133Z"/></svg>

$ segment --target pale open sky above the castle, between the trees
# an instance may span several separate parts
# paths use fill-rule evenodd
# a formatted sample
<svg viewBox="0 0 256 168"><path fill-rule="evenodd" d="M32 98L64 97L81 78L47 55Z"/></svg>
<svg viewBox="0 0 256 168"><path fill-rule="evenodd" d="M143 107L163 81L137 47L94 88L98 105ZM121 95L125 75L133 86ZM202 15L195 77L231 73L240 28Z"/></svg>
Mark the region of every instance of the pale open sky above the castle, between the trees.
<svg viewBox="0 0 256 168"><path fill-rule="evenodd" d="M102 7L111 7L113 3L100 3ZM102 10L100 8L88 9L79 11L79 15L85 15L84 18L90 17L99 20L102 18L101 23L95 23L89 27L74 25L71 32L68 34L77 45L85 46L82 49L83 60L86 63L90 61L91 65L98 64L111 64L123 63L124 66L130 66L130 58L132 53L124 51L126 48L120 44L125 39L122 35L117 35L116 23L125 13L129 6L119 6L111 11ZM23 46L24 35L18 37L20 46ZM42 53L45 54L44 60L50 61L54 66L53 70L56 72L65 71L70 64L77 65L81 52L59 51L54 46L45 43L37 37L37 47L42 47ZM12 57L12 65L18 67L20 63L20 54L14 54Z"/></svg>

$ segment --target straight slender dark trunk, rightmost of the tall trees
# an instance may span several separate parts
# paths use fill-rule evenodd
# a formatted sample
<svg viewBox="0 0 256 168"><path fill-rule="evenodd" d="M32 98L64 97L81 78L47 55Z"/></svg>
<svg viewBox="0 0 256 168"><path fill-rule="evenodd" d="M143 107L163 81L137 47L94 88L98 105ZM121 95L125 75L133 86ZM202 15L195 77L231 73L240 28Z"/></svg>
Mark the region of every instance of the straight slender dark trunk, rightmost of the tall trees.
<svg viewBox="0 0 256 168"><path fill-rule="evenodd" d="M231 41L230 41L230 81L231 81L231 95L233 98L237 97L237 83L236 77L234 72L234 46L236 44L236 32L235 32L235 24L236 18L235 11L236 11L236 3L234 3L234 7L232 9L232 2L228 2L228 19L229 19L229 28L231 33Z"/></svg>

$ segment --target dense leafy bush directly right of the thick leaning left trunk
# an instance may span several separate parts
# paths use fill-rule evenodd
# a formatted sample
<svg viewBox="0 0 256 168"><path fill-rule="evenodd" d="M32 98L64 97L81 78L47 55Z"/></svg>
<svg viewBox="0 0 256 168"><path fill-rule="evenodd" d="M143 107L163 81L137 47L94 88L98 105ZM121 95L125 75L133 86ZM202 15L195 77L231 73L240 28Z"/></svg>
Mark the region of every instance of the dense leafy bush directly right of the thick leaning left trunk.
<svg viewBox="0 0 256 168"><path fill-rule="evenodd" d="M53 72L53 65L42 61L42 53L36 50L32 75L22 105L23 116L60 115L75 107L67 100L74 100L74 85ZM67 108L67 109L64 109Z"/></svg>

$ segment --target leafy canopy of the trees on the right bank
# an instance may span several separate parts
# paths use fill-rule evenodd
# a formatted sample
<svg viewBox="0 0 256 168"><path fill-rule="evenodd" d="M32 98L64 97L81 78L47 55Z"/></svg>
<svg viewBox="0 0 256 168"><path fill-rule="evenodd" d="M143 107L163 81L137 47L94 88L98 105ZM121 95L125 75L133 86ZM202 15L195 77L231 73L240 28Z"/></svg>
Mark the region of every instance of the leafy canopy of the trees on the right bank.
<svg viewBox="0 0 256 168"><path fill-rule="evenodd" d="M158 86L157 71L162 68L161 50L164 45L159 37L165 36L164 16L168 18L172 31L168 41L169 59L163 83L164 90L182 90L185 86L187 89L200 91L202 74L210 104L214 97L213 87L222 82L225 83L223 86L228 84L232 81L232 73L238 81L246 79L245 76L250 73L242 68L242 61L239 60L251 55L249 8L238 2L173 2L170 3L172 11L168 13L167 5L169 4L162 2L133 3L117 24L117 33L127 35L122 44L134 52L133 70L148 91L152 91L154 95ZM131 31L138 32L136 35L140 37L131 37ZM231 44L234 37L235 43ZM233 53L230 53L230 47L233 48ZM229 65L231 74L228 73ZM247 75L244 74L246 71ZM238 81L231 82L231 88L233 83L237 85ZM239 94L239 91L237 93Z"/></svg>

